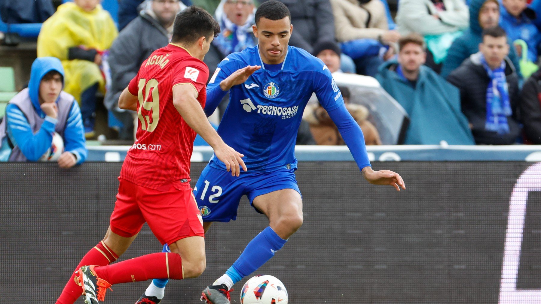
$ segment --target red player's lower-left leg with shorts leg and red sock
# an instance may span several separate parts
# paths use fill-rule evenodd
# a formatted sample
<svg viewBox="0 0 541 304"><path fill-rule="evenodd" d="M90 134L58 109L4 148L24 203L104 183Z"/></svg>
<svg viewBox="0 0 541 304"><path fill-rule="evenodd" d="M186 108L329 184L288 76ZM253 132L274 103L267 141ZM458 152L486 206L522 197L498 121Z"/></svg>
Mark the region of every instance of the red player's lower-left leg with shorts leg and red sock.
<svg viewBox="0 0 541 304"><path fill-rule="evenodd" d="M81 296L81 286L77 283L77 271L85 265L109 265L116 261L141 230L144 218L135 202L135 185L120 181L116 195L115 209L111 214L110 226L105 237L83 256L75 271L57 300L57 304L74 303Z"/></svg>

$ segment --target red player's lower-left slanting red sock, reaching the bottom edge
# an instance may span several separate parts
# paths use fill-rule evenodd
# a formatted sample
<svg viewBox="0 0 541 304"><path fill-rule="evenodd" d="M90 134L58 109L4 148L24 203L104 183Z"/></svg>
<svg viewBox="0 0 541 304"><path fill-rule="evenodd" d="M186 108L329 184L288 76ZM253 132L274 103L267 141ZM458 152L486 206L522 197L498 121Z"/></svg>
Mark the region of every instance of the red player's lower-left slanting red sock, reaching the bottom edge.
<svg viewBox="0 0 541 304"><path fill-rule="evenodd" d="M75 271L85 265L109 265L117 259L118 256L103 241L100 241L98 245L94 246L94 248L90 249L84 255L79 265L75 268ZM75 282L75 273L72 273L56 304L73 304L81 296L81 293L82 288L77 285Z"/></svg>

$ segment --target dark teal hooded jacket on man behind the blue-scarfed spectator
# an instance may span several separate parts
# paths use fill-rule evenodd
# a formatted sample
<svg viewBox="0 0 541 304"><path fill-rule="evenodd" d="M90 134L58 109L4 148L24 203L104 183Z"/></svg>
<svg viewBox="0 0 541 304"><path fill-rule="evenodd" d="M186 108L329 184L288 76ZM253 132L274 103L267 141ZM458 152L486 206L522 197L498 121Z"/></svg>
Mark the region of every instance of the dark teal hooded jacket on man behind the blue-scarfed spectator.
<svg viewBox="0 0 541 304"><path fill-rule="evenodd" d="M470 55L479 51L479 43L483 42L481 33L483 29L479 24L479 10L486 0L471 0L470 2L470 28L464 31L464 35L458 37L451 44L451 48L447 51L447 57L441 67L440 75L447 77L454 69L460 66ZM508 42L509 43L509 42ZM511 45L511 44L510 44ZM520 66L518 64L517 53L511 45L509 48L509 58L516 67L518 76L520 75Z"/></svg>

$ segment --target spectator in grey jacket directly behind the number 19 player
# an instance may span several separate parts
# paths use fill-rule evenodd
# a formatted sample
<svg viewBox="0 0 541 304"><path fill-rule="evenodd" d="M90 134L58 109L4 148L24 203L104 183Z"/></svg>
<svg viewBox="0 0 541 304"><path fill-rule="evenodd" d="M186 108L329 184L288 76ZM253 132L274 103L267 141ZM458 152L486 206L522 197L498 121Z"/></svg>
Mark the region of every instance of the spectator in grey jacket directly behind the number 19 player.
<svg viewBox="0 0 541 304"><path fill-rule="evenodd" d="M184 4L179 0L147 0L139 16L118 34L109 49L107 62L111 83L105 94L105 107L121 121L119 139L133 139L135 112L118 108L118 97L139 67L155 50L166 46L173 35L173 21Z"/></svg>

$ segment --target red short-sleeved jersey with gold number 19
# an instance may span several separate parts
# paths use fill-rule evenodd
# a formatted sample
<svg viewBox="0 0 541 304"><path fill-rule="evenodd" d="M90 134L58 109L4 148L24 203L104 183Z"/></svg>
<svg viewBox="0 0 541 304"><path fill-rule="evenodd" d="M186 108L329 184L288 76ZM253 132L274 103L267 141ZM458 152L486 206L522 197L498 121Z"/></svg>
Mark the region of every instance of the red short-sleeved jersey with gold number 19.
<svg viewBox="0 0 541 304"><path fill-rule="evenodd" d="M159 189L190 180L195 131L173 105L173 87L192 85L204 107L208 67L179 45L154 51L131 79L128 90L137 96L137 140L128 150L120 177Z"/></svg>

